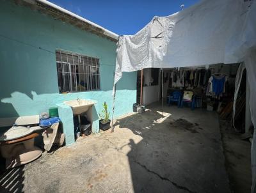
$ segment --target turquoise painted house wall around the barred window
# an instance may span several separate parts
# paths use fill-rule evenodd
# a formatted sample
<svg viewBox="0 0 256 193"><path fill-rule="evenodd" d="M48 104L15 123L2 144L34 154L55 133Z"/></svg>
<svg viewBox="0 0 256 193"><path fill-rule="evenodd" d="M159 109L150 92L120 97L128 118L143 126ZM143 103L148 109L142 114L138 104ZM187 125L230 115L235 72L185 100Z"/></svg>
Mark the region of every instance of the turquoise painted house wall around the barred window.
<svg viewBox="0 0 256 193"><path fill-rule="evenodd" d="M97 100L99 111L106 101L111 110L115 42L8 1L1 3L0 23L0 118L40 114L77 96ZM100 91L58 93L56 49L99 58ZM135 102L136 72L124 73L115 117L131 112Z"/></svg>

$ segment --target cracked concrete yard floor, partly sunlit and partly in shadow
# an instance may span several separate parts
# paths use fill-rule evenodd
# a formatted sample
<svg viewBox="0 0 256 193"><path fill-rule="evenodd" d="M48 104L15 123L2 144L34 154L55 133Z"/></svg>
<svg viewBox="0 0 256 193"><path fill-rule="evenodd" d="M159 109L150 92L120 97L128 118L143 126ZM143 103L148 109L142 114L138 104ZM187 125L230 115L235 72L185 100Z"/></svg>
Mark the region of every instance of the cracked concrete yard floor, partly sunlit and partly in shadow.
<svg viewBox="0 0 256 193"><path fill-rule="evenodd" d="M6 192L230 192L218 116L153 104L144 114L1 176Z"/></svg>

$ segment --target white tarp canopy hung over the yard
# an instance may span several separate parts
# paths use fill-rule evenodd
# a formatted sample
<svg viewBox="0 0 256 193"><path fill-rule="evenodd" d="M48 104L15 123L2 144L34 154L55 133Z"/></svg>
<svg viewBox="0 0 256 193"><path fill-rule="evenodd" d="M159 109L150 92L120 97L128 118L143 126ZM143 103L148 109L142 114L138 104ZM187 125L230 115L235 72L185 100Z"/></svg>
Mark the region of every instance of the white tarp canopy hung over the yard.
<svg viewBox="0 0 256 193"><path fill-rule="evenodd" d="M244 62L252 122L256 125L255 49L253 0L204 0L173 15L154 17L135 35L119 37L113 95L122 72ZM255 148L256 139L252 143L252 192L256 183Z"/></svg>

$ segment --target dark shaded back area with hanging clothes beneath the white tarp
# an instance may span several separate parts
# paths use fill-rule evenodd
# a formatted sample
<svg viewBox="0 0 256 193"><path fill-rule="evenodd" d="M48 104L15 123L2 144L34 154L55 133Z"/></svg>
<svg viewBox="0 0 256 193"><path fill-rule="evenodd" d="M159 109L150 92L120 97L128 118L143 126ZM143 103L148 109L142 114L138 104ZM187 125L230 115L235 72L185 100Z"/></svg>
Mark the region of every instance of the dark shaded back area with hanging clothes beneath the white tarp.
<svg viewBox="0 0 256 193"><path fill-rule="evenodd" d="M194 66L184 68L165 68L163 70L163 97L168 104L172 101L179 100L176 104L180 107L182 105L182 98L184 95L188 100L192 101L194 95L192 108L207 107L212 109L220 101L222 96L232 98L234 96L235 79L239 64L234 65L209 65ZM161 99L162 79L160 68L145 68L142 70L143 74L143 94L142 104L147 105L152 102L157 102ZM212 81L218 81L212 88ZM215 82L214 82L215 83ZM141 98L141 71L137 73L137 103L140 104ZM217 87L217 85L220 85ZM245 85L245 83L244 83ZM214 89L214 91L212 90ZM217 91L218 89L218 91ZM177 98L172 98L173 93ZM192 93L192 95L191 95ZM233 96L232 96L233 95ZM223 97L222 97L223 98ZM186 101L185 101L186 102ZM215 104L214 104L215 102ZM218 104L217 104L218 105ZM213 110L213 109L212 109Z"/></svg>

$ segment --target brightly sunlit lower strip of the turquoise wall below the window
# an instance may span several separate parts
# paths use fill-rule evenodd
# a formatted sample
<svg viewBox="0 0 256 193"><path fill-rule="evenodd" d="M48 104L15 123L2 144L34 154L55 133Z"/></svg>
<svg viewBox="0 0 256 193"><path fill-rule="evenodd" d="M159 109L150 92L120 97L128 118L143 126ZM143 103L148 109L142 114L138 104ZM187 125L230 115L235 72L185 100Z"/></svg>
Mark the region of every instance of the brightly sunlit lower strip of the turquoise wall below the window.
<svg viewBox="0 0 256 193"><path fill-rule="evenodd" d="M118 89L116 95L115 116L132 112L132 104L136 102L136 89ZM28 116L48 112L49 107L56 106L67 100L77 99L77 97L80 99L96 100L99 103L99 111L102 110L102 104L105 101L108 103L109 110L112 109L113 105L112 90L41 95L38 95L35 91L31 91L31 96L29 97L26 93L15 91L10 97L2 98L0 100L0 118Z"/></svg>

